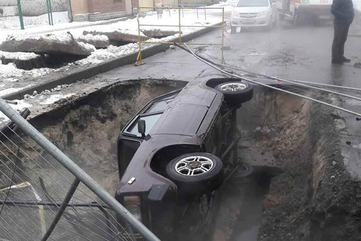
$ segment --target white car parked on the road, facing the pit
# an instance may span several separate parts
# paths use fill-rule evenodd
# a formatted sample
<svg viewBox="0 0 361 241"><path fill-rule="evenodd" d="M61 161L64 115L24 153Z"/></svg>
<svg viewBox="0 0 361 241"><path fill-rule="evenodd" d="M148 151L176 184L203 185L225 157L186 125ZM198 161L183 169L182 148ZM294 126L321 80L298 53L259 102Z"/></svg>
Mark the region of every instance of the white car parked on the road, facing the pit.
<svg viewBox="0 0 361 241"><path fill-rule="evenodd" d="M231 33L237 27L266 26L277 22L277 5L273 0L238 0L231 14Z"/></svg>

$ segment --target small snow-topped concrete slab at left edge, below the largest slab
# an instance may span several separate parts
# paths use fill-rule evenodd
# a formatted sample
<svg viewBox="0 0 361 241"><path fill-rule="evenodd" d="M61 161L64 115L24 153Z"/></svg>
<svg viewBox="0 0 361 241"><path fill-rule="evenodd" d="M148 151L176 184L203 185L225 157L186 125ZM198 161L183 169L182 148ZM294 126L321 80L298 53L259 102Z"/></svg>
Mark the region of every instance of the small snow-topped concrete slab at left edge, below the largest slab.
<svg viewBox="0 0 361 241"><path fill-rule="evenodd" d="M0 51L0 59L2 64L15 63L18 69L39 69L46 66L44 55L24 52L3 52Z"/></svg>

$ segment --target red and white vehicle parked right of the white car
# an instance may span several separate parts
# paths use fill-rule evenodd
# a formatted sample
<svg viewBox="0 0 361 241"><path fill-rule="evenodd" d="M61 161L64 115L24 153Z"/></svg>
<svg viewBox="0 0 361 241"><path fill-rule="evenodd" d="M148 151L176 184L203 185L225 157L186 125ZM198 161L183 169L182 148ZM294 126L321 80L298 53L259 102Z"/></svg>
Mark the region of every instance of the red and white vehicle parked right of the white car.
<svg viewBox="0 0 361 241"><path fill-rule="evenodd" d="M312 21L332 21L332 0L277 0L280 20L292 20L295 25Z"/></svg>

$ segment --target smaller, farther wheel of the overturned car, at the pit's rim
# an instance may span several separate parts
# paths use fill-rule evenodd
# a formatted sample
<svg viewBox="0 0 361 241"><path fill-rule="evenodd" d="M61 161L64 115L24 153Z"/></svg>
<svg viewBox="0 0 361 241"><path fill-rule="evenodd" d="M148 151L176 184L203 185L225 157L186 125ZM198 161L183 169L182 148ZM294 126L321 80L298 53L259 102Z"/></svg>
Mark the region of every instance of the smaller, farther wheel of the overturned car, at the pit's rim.
<svg viewBox="0 0 361 241"><path fill-rule="evenodd" d="M253 97L253 87L241 81L231 81L219 84L216 89L225 95L226 102L240 104L251 100Z"/></svg>

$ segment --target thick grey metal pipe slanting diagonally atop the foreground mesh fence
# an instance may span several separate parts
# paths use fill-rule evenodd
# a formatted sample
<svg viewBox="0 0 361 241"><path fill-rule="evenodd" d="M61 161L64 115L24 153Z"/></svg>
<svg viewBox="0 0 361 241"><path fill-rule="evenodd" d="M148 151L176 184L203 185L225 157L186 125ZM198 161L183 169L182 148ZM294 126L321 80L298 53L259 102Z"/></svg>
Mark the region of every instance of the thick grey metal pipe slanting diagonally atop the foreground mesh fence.
<svg viewBox="0 0 361 241"><path fill-rule="evenodd" d="M0 98L0 111L3 112L10 120L15 122L26 134L28 134L36 143L38 143L45 151L51 154L58 162L68 169L75 177L81 180L90 190L92 190L100 199L108 204L114 212L124 218L132 225L146 240L160 241L144 224L136 219L130 212L104 190L91 176L89 176L82 168L73 162L67 155L59 150L53 143L45 138L38 130L36 130L29 122L23 119L13 108Z"/></svg>

